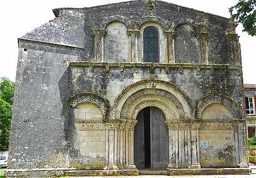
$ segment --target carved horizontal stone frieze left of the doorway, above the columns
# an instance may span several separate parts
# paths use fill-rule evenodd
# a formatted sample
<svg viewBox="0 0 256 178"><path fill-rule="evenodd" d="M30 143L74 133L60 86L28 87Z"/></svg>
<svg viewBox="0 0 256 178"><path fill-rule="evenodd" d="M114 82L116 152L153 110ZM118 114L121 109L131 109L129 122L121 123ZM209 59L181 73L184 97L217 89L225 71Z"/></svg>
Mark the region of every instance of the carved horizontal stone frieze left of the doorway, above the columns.
<svg viewBox="0 0 256 178"><path fill-rule="evenodd" d="M75 120L78 130L134 130L137 120Z"/></svg>

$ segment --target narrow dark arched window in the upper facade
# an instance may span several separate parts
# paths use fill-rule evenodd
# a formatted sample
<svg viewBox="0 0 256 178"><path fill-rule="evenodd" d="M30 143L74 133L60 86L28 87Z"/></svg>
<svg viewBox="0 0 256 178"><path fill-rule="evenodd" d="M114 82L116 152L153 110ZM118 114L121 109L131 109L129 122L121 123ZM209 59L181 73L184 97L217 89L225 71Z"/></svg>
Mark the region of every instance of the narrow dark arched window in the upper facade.
<svg viewBox="0 0 256 178"><path fill-rule="evenodd" d="M159 33L155 27L147 27L143 33L144 62L159 62Z"/></svg>

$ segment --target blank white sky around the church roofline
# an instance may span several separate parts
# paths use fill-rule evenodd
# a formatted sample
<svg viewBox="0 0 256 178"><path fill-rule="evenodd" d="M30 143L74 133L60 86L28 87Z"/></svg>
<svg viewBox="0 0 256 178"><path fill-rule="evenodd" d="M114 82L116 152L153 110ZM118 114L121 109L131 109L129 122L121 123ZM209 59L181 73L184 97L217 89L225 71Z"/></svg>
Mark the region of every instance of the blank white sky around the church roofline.
<svg viewBox="0 0 256 178"><path fill-rule="evenodd" d="M16 78L18 57L17 38L55 18L52 9L60 7L91 7L107 3L122 2L125 0L2 0L0 2L0 77ZM198 9L200 11L228 17L228 8L234 6L238 0L165 0L180 6ZM242 49L244 83L256 84L256 37L242 32L242 26L237 27Z"/></svg>

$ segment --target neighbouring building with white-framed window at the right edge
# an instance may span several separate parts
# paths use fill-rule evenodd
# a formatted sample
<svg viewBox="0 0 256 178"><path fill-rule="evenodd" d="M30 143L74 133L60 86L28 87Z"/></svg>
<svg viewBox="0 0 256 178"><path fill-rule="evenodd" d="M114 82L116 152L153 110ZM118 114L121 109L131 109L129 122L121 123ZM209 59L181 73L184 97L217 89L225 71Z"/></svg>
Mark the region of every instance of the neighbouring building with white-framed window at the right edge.
<svg viewBox="0 0 256 178"><path fill-rule="evenodd" d="M248 138L256 135L256 84L244 84L245 109L247 119Z"/></svg>

